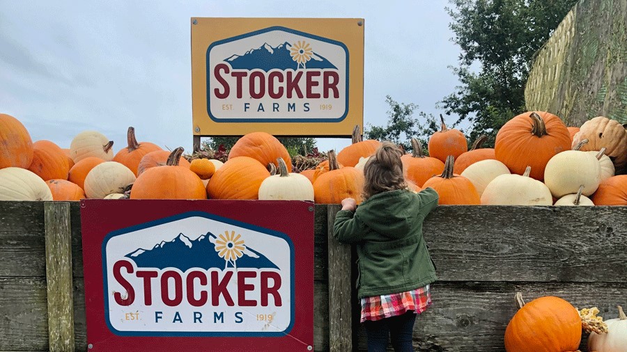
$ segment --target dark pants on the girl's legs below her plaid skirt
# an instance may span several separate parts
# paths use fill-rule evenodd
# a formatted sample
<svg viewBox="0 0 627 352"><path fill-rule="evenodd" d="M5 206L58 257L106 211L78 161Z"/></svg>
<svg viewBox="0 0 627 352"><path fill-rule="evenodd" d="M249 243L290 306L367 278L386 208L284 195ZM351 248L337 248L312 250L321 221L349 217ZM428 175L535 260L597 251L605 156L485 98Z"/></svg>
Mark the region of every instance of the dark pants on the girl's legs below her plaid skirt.
<svg viewBox="0 0 627 352"><path fill-rule="evenodd" d="M388 337L392 337L392 346L396 352L414 352L412 331L416 313L406 312L397 317L377 321L364 321L368 337L368 352L382 352L387 349Z"/></svg>

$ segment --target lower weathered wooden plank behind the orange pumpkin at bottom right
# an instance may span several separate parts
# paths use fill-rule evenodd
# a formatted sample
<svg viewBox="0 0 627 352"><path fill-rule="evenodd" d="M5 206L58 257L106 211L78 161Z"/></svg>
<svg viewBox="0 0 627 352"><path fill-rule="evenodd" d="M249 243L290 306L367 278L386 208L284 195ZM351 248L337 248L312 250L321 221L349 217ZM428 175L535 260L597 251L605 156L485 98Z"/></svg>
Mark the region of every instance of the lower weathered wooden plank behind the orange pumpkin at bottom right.
<svg viewBox="0 0 627 352"><path fill-rule="evenodd" d="M558 296L575 307L596 306L605 319L614 318L616 305L626 304L627 283L511 283L436 282L433 305L420 314L414 326L417 351L504 351L507 323L516 312L514 294L521 291L526 302L540 296ZM359 351L366 349L359 329ZM392 351L390 349L390 351ZM582 342L585 348L585 339Z"/></svg>

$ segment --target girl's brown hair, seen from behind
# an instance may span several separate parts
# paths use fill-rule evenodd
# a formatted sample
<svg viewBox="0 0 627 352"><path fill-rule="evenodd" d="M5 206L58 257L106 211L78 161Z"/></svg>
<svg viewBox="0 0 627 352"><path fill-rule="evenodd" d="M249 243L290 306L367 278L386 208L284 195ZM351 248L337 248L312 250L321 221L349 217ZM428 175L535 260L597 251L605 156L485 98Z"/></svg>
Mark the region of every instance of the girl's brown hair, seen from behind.
<svg viewBox="0 0 627 352"><path fill-rule="evenodd" d="M363 200L377 193L407 188L407 182L403 176L402 156L403 152L394 143L383 142L378 147L364 166L366 182L362 192Z"/></svg>

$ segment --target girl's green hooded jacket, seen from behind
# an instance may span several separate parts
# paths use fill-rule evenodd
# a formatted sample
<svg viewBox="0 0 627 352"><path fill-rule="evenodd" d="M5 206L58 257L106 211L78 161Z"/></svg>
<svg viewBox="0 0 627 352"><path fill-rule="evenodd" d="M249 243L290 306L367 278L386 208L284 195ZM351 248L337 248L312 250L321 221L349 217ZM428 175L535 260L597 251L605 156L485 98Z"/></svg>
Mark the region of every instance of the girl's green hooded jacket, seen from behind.
<svg viewBox="0 0 627 352"><path fill-rule="evenodd" d="M431 188L405 189L371 196L353 211L341 210L334 236L357 244L358 298L397 294L438 278L422 236L424 218L438 205Z"/></svg>

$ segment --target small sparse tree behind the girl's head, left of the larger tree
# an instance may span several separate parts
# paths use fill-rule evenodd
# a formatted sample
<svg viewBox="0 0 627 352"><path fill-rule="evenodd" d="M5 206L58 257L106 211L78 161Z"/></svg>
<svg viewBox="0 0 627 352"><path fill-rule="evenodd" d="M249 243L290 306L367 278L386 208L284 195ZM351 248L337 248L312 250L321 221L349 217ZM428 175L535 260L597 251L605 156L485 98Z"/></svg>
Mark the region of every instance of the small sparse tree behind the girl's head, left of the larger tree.
<svg viewBox="0 0 627 352"><path fill-rule="evenodd" d="M382 127L366 124L364 138L390 141L402 145L405 151L410 152L412 151L411 138L415 137L426 151L429 136L439 128L433 115L420 111L417 113L418 118L414 118L414 113L418 109L416 104L398 103L389 95L385 101L389 104L387 125Z"/></svg>

